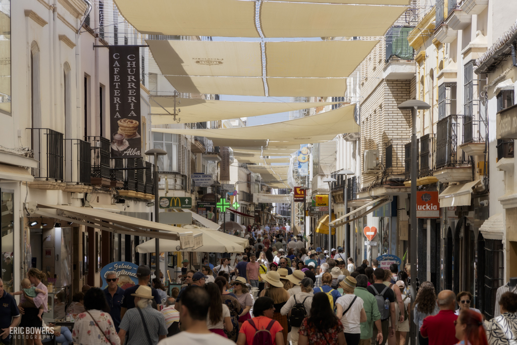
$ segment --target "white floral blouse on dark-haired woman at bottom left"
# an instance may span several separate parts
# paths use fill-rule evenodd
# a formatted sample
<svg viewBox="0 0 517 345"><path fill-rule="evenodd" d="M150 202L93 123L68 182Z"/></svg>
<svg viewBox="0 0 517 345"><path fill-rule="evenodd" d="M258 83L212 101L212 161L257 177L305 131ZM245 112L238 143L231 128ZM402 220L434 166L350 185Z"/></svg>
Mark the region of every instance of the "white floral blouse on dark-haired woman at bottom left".
<svg viewBox="0 0 517 345"><path fill-rule="evenodd" d="M90 344L111 344L120 345L120 338L118 338L115 325L109 313L101 310L88 310L92 317L97 321L101 330L92 320L92 317L87 312L79 314L78 320L73 326L72 338L75 344L90 345ZM105 335L105 336L104 336ZM106 339L108 337L110 342Z"/></svg>

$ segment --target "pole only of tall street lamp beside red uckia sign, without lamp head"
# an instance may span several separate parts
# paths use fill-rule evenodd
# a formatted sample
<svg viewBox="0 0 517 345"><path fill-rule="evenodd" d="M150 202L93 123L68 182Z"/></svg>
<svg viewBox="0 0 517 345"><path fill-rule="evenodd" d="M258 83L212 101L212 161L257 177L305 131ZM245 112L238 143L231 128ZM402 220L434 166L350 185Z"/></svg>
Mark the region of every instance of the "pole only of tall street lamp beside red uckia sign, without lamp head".
<svg viewBox="0 0 517 345"><path fill-rule="evenodd" d="M409 248L409 260L410 260L410 269L411 269L411 305L415 303L416 297L416 280L417 280L417 156L418 156L418 146L417 146L417 131L416 131L416 113L417 108L413 108L411 110L411 122L412 122L412 135L411 135L411 200L410 200L410 209L409 213L411 214L411 241ZM429 231L429 229L428 229ZM417 343L417 329L413 322L409 322L411 325L410 328L410 343Z"/></svg>

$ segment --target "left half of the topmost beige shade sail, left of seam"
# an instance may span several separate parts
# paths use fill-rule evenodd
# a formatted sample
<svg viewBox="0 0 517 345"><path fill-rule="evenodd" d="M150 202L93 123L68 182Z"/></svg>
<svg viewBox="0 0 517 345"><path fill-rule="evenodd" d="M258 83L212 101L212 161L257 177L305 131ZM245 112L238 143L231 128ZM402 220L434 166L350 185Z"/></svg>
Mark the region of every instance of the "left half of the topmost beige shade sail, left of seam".
<svg viewBox="0 0 517 345"><path fill-rule="evenodd" d="M115 0L141 34L259 37L255 2L236 0Z"/></svg>

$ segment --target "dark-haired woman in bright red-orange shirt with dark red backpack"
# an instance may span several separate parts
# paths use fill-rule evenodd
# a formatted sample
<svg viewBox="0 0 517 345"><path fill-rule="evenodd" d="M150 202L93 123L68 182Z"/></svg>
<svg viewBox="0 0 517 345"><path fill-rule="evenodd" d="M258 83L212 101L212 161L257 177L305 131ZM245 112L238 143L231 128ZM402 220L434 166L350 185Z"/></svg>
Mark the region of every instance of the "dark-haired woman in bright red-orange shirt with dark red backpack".
<svg viewBox="0 0 517 345"><path fill-rule="evenodd" d="M278 321L272 320L273 313L275 313L275 304L273 303L273 300L269 297L258 297L253 305L254 318L247 320L242 324L242 327L240 327L237 345L252 345L253 337L255 336L257 329L266 329L271 321L274 321L269 329L273 345L283 344L283 328Z"/></svg>

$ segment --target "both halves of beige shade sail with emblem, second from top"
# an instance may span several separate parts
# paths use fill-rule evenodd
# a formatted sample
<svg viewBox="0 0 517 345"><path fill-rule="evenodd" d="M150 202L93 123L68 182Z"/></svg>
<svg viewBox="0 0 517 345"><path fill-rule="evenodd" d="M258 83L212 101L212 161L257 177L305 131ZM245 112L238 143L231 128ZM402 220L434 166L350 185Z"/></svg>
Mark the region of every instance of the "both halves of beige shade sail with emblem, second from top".
<svg viewBox="0 0 517 345"><path fill-rule="evenodd" d="M167 76L262 77L261 42L146 40ZM265 77L348 77L378 40L266 42ZM348 54L353 51L354 54ZM314 62L318 63L315 64ZM319 94L318 94L319 95Z"/></svg>

